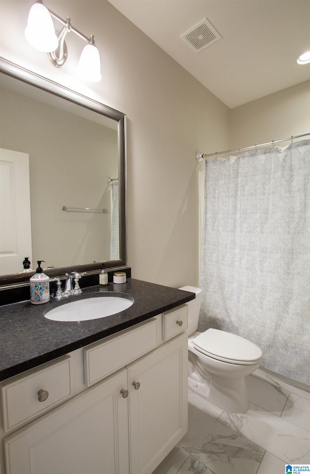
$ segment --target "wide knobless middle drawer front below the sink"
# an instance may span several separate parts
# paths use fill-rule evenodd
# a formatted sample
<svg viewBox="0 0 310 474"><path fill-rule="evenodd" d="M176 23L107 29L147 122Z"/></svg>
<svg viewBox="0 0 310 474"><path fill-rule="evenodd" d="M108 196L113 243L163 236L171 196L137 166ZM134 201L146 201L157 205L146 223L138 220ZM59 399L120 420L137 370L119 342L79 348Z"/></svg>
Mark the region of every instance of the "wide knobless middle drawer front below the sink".
<svg viewBox="0 0 310 474"><path fill-rule="evenodd" d="M107 377L157 347L157 320L151 319L84 349L85 385Z"/></svg>

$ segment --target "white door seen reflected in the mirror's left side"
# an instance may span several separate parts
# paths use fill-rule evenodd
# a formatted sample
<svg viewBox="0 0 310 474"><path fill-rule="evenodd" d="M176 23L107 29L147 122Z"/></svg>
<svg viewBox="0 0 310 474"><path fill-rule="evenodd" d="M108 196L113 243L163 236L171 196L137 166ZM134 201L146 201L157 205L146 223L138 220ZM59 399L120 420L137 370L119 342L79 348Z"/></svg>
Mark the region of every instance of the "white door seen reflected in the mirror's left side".
<svg viewBox="0 0 310 474"><path fill-rule="evenodd" d="M0 275L33 270L29 154L0 148L0 203Z"/></svg>

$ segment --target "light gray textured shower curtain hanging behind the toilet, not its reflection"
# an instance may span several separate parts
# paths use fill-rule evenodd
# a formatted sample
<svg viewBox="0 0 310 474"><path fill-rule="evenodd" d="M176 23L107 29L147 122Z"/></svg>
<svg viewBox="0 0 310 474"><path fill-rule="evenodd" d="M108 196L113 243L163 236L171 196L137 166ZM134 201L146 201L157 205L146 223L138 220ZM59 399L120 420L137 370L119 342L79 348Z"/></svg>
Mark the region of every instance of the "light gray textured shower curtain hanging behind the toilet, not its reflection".
<svg viewBox="0 0 310 474"><path fill-rule="evenodd" d="M206 160L199 330L310 384L310 140Z"/></svg>

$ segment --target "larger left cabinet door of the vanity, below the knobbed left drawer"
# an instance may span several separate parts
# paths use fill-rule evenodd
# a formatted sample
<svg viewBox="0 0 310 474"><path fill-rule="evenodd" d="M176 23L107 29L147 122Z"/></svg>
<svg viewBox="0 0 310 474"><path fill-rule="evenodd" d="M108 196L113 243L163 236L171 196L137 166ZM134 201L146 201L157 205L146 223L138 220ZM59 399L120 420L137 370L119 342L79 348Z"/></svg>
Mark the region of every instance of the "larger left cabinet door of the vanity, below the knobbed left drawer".
<svg viewBox="0 0 310 474"><path fill-rule="evenodd" d="M128 474L127 371L4 440L7 474Z"/></svg>

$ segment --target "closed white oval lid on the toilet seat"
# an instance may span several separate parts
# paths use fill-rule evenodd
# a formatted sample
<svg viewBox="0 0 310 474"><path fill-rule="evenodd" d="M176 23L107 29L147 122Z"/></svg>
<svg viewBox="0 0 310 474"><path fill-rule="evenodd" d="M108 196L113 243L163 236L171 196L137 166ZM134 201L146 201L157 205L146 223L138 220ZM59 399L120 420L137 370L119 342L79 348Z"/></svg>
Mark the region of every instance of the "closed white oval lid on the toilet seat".
<svg viewBox="0 0 310 474"><path fill-rule="evenodd" d="M192 342L198 351L210 355L210 357L232 360L236 363L238 361L244 363L254 362L263 355L261 349L253 342L219 329L207 329L207 331L195 337Z"/></svg>

